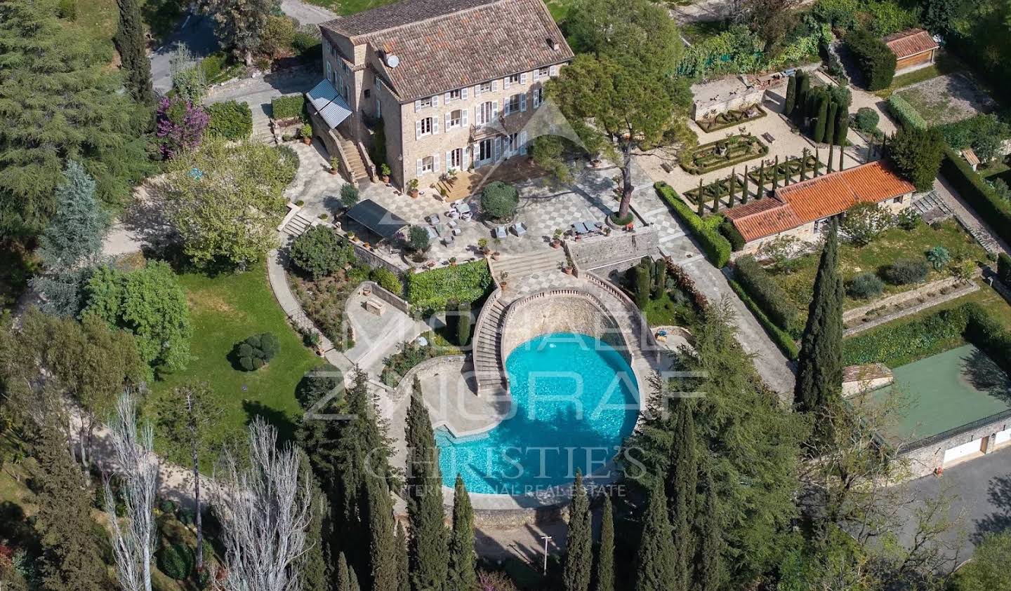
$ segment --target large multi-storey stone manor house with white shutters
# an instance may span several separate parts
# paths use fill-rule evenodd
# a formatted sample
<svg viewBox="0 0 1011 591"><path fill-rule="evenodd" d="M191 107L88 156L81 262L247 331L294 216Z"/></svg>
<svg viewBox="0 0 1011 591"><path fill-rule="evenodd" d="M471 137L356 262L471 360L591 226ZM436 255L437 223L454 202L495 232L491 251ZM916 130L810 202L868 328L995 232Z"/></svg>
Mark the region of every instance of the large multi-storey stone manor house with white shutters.
<svg viewBox="0 0 1011 591"><path fill-rule="evenodd" d="M319 28L313 134L352 179L386 164L401 188L525 155L544 83L573 57L541 0L404 0Z"/></svg>

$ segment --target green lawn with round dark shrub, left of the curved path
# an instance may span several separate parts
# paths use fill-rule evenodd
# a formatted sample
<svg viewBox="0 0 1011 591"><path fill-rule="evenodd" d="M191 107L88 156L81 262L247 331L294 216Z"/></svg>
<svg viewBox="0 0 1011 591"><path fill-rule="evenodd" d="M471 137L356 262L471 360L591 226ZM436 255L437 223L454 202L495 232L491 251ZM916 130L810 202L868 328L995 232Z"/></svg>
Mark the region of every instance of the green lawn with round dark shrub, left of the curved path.
<svg viewBox="0 0 1011 591"><path fill-rule="evenodd" d="M290 436L292 421L299 412L295 386L319 360L288 325L265 270L217 277L184 274L180 283L193 322L193 360L185 371L154 384L148 408L154 408L159 399L180 384L201 380L209 384L218 401L218 428L223 432L239 433L252 417L261 414L277 425L282 436ZM228 354L235 343L260 332L277 335L281 346L277 357L255 372L233 368ZM164 451L162 441L156 440L155 445Z"/></svg>

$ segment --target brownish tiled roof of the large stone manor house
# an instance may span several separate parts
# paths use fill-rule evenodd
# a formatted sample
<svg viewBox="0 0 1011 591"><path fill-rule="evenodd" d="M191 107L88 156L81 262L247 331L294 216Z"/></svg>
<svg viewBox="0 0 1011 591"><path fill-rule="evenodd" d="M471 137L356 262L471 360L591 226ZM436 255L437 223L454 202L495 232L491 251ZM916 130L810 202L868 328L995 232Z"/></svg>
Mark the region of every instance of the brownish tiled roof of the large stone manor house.
<svg viewBox="0 0 1011 591"><path fill-rule="evenodd" d="M380 61L372 64L401 101L573 57L541 0L404 0L320 27L354 44L368 43L375 52L396 55L396 68Z"/></svg>

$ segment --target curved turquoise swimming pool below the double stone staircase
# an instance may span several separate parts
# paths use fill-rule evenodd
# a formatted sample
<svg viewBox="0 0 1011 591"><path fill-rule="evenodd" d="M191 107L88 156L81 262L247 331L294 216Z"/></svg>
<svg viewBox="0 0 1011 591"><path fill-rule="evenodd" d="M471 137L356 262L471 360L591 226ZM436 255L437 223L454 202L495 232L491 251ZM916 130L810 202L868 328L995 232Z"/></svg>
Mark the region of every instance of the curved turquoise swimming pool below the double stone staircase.
<svg viewBox="0 0 1011 591"><path fill-rule="evenodd" d="M536 494L570 482L576 469L601 470L635 427L632 369L592 336L538 336L513 351L505 370L512 417L472 437L436 431L447 486L460 473L472 493Z"/></svg>

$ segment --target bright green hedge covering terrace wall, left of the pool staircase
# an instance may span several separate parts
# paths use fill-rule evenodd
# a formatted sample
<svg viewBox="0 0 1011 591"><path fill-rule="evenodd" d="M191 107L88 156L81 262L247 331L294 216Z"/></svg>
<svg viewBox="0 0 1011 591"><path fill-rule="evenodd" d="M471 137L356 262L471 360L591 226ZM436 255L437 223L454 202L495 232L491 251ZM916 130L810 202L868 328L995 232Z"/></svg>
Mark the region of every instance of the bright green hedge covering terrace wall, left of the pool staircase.
<svg viewBox="0 0 1011 591"><path fill-rule="evenodd" d="M407 301L423 310L445 310L450 300L473 302L491 285L487 261L407 274Z"/></svg>

